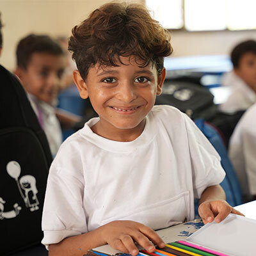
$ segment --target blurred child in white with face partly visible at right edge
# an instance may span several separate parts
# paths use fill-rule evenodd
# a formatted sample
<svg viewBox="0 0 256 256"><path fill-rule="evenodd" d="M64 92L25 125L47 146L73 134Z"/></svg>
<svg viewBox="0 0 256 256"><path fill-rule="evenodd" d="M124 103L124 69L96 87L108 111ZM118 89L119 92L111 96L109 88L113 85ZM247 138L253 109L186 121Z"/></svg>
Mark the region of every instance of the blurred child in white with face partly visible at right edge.
<svg viewBox="0 0 256 256"><path fill-rule="evenodd" d="M256 41L247 40L231 52L232 72L223 77L223 86L232 92L220 109L227 113L246 110L256 102Z"/></svg>

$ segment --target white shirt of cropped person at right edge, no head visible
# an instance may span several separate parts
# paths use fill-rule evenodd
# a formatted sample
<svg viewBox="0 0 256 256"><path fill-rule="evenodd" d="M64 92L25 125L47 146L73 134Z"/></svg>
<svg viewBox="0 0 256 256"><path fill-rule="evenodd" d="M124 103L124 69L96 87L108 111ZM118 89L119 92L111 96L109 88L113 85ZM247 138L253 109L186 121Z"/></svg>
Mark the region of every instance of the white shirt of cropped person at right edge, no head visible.
<svg viewBox="0 0 256 256"><path fill-rule="evenodd" d="M244 195L256 195L256 104L239 120L228 147Z"/></svg>

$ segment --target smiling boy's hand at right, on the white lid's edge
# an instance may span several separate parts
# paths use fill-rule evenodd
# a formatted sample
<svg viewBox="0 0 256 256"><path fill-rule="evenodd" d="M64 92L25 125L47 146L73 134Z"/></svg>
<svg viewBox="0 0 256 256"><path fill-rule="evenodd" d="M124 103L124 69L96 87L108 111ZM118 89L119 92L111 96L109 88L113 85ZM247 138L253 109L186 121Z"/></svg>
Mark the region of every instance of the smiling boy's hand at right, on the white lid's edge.
<svg viewBox="0 0 256 256"><path fill-rule="evenodd" d="M219 223L220 221L223 221L230 213L244 216L243 213L234 209L225 200L205 201L199 205L198 212L204 221L204 224L212 222L214 217L216 217L215 222Z"/></svg>

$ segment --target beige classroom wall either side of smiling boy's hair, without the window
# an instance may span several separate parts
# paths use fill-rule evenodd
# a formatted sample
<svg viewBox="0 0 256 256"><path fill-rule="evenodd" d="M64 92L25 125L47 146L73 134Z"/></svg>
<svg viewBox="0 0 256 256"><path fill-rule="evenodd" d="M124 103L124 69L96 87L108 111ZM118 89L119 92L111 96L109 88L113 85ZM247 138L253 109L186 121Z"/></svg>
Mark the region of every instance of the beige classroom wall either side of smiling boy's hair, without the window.
<svg viewBox="0 0 256 256"><path fill-rule="evenodd" d="M109 0L0 0L4 23L1 65L15 68L15 48L28 33L70 36L71 29L88 13ZM144 0L127 0L144 3ZM166 0L168 1L168 0ZM241 40L254 38L255 31L172 31L173 56L229 54Z"/></svg>

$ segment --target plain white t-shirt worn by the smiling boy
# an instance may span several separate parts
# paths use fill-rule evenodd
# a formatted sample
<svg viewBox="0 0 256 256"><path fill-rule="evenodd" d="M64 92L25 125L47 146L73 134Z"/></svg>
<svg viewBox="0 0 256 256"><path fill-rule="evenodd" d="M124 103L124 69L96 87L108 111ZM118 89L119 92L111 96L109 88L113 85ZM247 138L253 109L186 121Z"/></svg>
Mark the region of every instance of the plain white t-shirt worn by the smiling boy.
<svg viewBox="0 0 256 256"><path fill-rule="evenodd" d="M54 159L42 219L43 244L133 220L157 230L194 218L194 195L225 177L220 156L192 120L154 106L134 141L102 138L87 122Z"/></svg>

